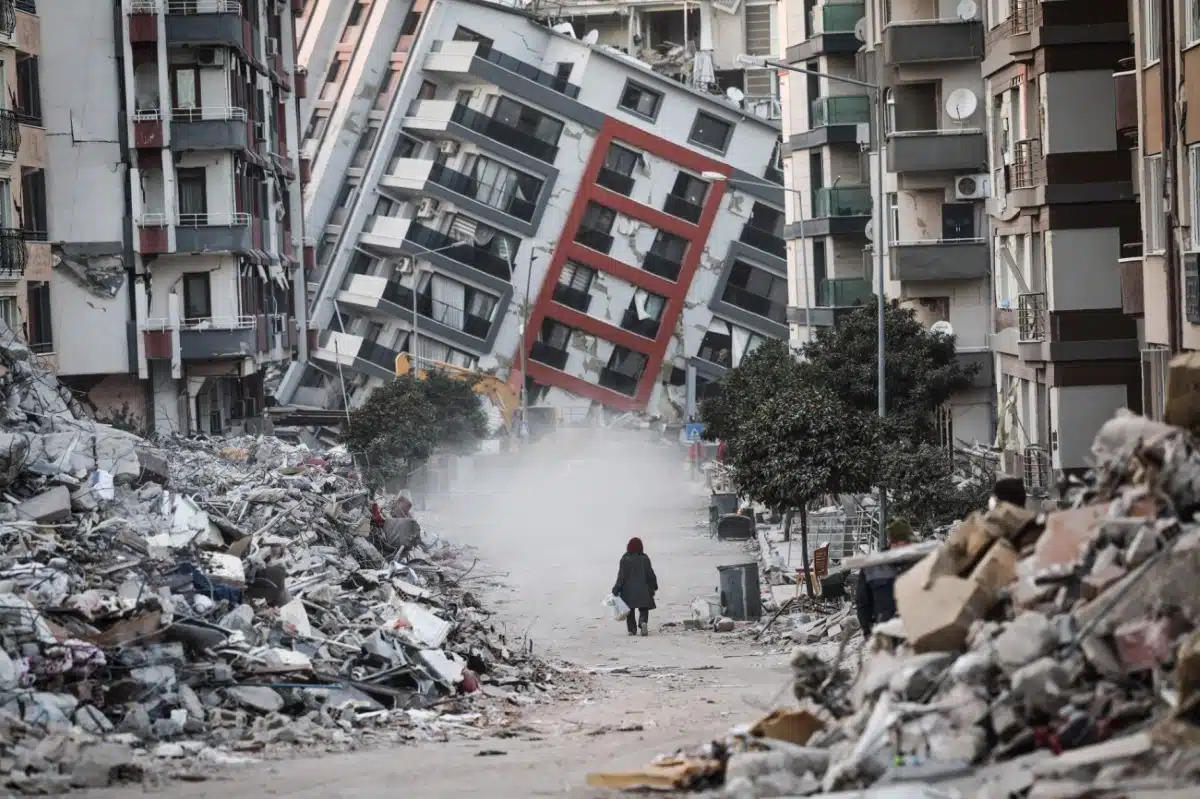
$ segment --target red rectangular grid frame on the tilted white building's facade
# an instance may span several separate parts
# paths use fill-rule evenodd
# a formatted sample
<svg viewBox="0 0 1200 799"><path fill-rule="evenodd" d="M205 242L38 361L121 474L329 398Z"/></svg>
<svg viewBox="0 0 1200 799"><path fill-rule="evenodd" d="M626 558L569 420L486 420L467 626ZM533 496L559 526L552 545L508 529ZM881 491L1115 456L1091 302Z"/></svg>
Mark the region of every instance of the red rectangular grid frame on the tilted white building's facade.
<svg viewBox="0 0 1200 799"><path fill-rule="evenodd" d="M710 185L708 197L704 198L704 205L700 214L700 221L696 224L691 224L686 220L680 220L656 208L643 205L637 200L630 199L624 194L608 191L596 184L596 176L600 174L600 168L604 166L605 158L608 155L608 145L613 140L628 144L636 150L641 150L649 155L670 161L676 166L696 174L702 172L719 172L728 176L732 170L727 164L720 161L702 156L698 152L689 150L688 148L680 146L673 142L654 136L648 131L634 127L632 125L626 125L625 122L610 116L605 120L605 124L600 128L599 136L596 137L595 144L592 148L587 168L583 172L583 179L580 182L580 190L575 196L575 203L571 205L571 210L566 216L566 222L563 226L563 233L558 240L558 245L554 247L554 253L551 256L550 268L546 270L546 277L541 282L541 287L538 292L538 300L529 316L529 330L539 330L542 320L548 317L577 330L604 338L613 344L644 353L647 355L647 364L646 370L642 372L641 382L637 385L637 392L632 397L623 395L618 391L612 391L601 385L596 385L595 383L588 383L582 378L572 377L565 372L560 372L551 366L546 366L545 364L539 364L532 359L528 360L528 376L542 385L565 389L566 391L587 397L588 400L594 400L618 410L642 410L649 403L650 394L654 391L654 384L658 382L659 371L662 368L662 359L666 356L667 346L674 334L679 314L683 313L688 289L691 287L691 280L695 276L696 270L700 268L700 259L703 254L704 245L708 241L709 233L713 229L713 222L720 210L721 198L725 196L726 182L714 181ZM679 265L678 281L671 282L659 277L658 275L638 269L637 266L624 264L604 253L576 244L575 234L578 230L580 223L583 221L583 215L587 211L588 203L592 202L599 203L618 214L646 222L647 224L653 224L656 228L685 239L688 241L688 251L684 253L683 263ZM580 313L574 308L554 302L554 286L558 283L558 277L568 260L574 260L586 266L590 266L596 271L612 275L613 277L646 289L647 292L653 292L654 294L665 296L667 301L666 307L662 311L662 320L659 325L658 337L653 341L643 338L642 336L623 330L612 323L589 317L586 313ZM528 336L528 347L533 347L534 338L536 338L535 335ZM520 362L520 350L518 358L514 359L514 362ZM512 383L515 385L520 385L520 371L515 370L512 374L515 377Z"/></svg>

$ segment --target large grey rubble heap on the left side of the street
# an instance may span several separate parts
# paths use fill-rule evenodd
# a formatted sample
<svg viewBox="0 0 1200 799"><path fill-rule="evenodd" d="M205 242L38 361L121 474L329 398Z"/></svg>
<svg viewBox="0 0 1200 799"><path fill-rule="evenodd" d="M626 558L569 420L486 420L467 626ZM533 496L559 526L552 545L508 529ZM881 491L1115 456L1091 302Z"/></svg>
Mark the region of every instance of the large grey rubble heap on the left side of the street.
<svg viewBox="0 0 1200 799"><path fill-rule="evenodd" d="M0 330L0 781L61 793L296 746L479 737L570 690L470 563L336 451L155 446ZM383 505L384 507L380 507Z"/></svg>

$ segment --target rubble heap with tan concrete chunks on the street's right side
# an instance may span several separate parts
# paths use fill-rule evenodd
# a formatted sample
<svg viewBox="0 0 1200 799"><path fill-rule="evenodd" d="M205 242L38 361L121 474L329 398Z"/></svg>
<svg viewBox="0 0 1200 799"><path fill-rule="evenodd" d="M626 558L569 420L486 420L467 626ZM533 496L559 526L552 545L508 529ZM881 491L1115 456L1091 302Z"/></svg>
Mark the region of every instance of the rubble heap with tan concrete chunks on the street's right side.
<svg viewBox="0 0 1200 799"><path fill-rule="evenodd" d="M787 631L792 707L589 781L738 798L1194 795L1200 446L1122 411L1093 452L1058 510L1001 504L940 545L876 555L916 563L857 668L842 657L853 615L809 614Z"/></svg>

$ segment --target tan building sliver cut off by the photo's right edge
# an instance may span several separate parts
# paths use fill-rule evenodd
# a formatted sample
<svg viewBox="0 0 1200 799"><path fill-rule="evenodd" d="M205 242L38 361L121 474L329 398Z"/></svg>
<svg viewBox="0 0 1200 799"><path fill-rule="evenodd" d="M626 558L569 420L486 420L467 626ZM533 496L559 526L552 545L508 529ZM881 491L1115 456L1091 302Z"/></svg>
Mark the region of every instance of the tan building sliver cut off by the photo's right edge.
<svg viewBox="0 0 1200 799"><path fill-rule="evenodd" d="M1139 319L1144 413L1162 419L1170 354L1200 349L1200 119L1188 113L1200 107L1200 4L1138 0L1129 19L1116 126L1139 174L1141 236L1121 264L1122 299Z"/></svg>

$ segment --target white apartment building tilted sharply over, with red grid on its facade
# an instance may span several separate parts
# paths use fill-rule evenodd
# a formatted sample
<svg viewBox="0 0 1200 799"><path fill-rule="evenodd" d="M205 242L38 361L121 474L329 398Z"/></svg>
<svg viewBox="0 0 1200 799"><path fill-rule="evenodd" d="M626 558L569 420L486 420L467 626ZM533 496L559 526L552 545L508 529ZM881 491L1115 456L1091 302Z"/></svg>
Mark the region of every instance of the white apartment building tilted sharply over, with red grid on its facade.
<svg viewBox="0 0 1200 799"><path fill-rule="evenodd" d="M397 49L349 92L385 102L316 146L349 166L314 166L320 343L283 401L358 404L416 353L523 373L539 403L678 417L689 372L702 395L786 336L776 126L522 12L364 5Z"/></svg>

